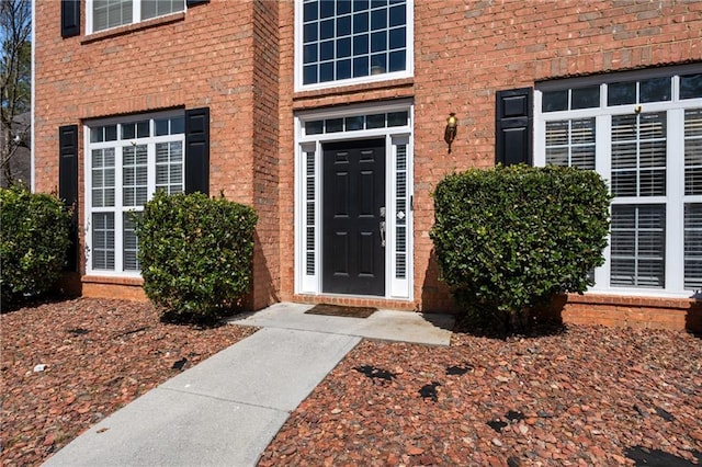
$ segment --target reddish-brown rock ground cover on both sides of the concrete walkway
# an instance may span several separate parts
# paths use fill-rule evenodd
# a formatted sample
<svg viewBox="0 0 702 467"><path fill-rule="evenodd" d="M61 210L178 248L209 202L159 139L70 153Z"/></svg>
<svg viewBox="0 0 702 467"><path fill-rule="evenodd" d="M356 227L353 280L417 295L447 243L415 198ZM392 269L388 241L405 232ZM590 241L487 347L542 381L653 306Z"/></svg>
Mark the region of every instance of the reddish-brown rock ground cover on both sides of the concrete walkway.
<svg viewBox="0 0 702 467"><path fill-rule="evenodd" d="M183 357L188 368L253 332L163 324L147 304L97 299L1 315L0 330L7 466L41 464L174 376ZM701 366L702 340L670 331L456 332L451 348L363 341L260 465L611 466L645 455L697 465Z"/></svg>

